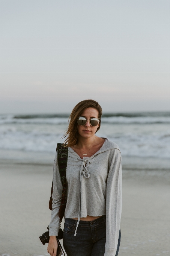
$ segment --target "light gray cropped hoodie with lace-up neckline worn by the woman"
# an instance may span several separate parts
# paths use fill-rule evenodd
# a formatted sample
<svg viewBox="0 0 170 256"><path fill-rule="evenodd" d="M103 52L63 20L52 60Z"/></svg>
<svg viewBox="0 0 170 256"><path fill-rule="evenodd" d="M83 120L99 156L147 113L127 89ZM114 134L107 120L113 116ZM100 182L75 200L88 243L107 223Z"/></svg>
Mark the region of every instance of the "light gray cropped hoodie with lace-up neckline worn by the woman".
<svg viewBox="0 0 170 256"><path fill-rule="evenodd" d="M86 218L87 215L106 215L104 256L115 256L122 211L121 155L116 143L104 139L104 144L92 157L81 159L72 148L68 148L68 195L65 218L78 218L78 227L80 218ZM62 195L57 153L53 165L53 188L53 209L49 228L50 236L57 236Z"/></svg>

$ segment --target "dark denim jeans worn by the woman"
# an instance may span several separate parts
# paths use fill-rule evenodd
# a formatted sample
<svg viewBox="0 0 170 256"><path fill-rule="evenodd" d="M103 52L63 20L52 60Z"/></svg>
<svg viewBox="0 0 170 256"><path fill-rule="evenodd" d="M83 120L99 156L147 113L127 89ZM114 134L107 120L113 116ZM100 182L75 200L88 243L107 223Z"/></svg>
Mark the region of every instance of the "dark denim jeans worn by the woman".
<svg viewBox="0 0 170 256"><path fill-rule="evenodd" d="M94 221L80 221L77 235L74 236L77 220L65 219L63 231L63 247L68 256L104 256L106 242L105 215ZM116 255L119 252L120 237Z"/></svg>

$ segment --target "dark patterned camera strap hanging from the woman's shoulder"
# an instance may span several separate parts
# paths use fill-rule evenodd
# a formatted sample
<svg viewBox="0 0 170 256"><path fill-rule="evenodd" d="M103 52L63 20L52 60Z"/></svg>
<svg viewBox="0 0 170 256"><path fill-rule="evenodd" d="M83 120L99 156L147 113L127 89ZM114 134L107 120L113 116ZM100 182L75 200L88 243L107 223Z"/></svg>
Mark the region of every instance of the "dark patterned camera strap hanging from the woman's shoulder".
<svg viewBox="0 0 170 256"><path fill-rule="evenodd" d="M58 159L58 165L59 165L59 172L60 172L60 177L63 185L63 190L62 190L62 199L61 199L61 204L60 204L60 209L59 209L59 218L60 221L62 221L65 208L66 208L66 201L67 201L67 184L66 184L66 168L67 168L67 160L68 160L68 147L64 148L63 143L57 143L57 159ZM51 186L51 197L49 201L49 209L52 210L52 195L53 195L53 182Z"/></svg>

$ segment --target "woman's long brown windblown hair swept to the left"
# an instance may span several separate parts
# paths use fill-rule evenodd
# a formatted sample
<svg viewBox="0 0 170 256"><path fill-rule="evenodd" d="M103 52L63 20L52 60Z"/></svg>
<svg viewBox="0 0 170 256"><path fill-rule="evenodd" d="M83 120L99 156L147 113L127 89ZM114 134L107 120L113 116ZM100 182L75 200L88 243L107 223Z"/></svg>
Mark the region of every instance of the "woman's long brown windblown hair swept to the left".
<svg viewBox="0 0 170 256"><path fill-rule="evenodd" d="M95 108L98 110L98 118L101 119L102 116L102 108L98 104L97 101L93 101L93 99L86 99L85 101L80 101L72 110L71 115L69 116L69 126L63 136L63 138L67 137L64 144L67 143L67 147L73 147L78 140L78 123L77 123L77 118L81 115L81 113L86 109L86 108ZM100 129L100 122L99 122L99 127L97 128L97 131ZM97 132L96 131L96 132Z"/></svg>

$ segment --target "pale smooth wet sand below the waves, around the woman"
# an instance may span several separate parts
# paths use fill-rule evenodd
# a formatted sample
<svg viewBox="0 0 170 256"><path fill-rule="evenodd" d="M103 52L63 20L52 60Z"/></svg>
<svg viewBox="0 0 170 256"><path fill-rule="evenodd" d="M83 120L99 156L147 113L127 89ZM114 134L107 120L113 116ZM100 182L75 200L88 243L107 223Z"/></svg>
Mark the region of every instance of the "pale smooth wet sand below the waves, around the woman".
<svg viewBox="0 0 170 256"><path fill-rule="evenodd" d="M39 236L51 217L52 158L42 164L0 160L0 255L49 255ZM119 256L170 255L169 162L126 158L122 169Z"/></svg>

